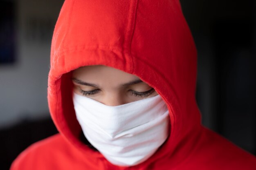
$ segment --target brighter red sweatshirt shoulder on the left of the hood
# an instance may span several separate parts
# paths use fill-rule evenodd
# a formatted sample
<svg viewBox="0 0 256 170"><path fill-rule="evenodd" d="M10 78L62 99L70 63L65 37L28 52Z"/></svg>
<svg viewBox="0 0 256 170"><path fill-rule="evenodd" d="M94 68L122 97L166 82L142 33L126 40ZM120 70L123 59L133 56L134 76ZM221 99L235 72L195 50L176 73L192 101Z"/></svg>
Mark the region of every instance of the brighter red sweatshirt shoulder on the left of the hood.
<svg viewBox="0 0 256 170"><path fill-rule="evenodd" d="M45 169L47 164L51 164L57 157L60 159L60 155L70 147L60 134L47 137L21 152L11 164L10 170ZM41 168L37 168L39 166Z"/></svg>

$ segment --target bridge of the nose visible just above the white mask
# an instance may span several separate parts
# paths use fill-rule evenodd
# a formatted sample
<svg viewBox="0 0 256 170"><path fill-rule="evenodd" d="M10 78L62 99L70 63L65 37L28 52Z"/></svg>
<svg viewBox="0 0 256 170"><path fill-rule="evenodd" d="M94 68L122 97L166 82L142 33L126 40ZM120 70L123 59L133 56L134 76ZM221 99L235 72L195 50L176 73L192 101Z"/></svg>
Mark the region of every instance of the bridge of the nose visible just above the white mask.
<svg viewBox="0 0 256 170"><path fill-rule="evenodd" d="M121 94L108 94L103 98L101 103L107 106L119 106L126 104L124 95Z"/></svg>

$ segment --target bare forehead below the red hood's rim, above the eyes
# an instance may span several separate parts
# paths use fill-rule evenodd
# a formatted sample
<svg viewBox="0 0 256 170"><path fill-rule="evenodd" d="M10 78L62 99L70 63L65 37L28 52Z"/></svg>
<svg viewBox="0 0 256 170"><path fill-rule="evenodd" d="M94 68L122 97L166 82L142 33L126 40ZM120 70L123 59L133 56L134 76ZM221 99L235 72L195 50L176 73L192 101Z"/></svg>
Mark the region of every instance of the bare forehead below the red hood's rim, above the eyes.
<svg viewBox="0 0 256 170"><path fill-rule="evenodd" d="M108 66L83 66L73 71L73 78L96 84L124 84L139 79L136 75L126 73Z"/></svg>

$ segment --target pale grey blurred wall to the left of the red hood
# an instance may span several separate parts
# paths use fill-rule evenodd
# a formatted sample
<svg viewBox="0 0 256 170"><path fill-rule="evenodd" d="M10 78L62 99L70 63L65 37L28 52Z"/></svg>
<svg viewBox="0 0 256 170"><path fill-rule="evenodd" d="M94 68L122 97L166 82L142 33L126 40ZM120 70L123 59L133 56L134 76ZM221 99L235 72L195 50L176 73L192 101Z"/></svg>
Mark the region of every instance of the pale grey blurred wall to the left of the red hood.
<svg viewBox="0 0 256 170"><path fill-rule="evenodd" d="M50 42L63 0L9 0L15 8L16 62L0 65L0 128L49 116Z"/></svg>

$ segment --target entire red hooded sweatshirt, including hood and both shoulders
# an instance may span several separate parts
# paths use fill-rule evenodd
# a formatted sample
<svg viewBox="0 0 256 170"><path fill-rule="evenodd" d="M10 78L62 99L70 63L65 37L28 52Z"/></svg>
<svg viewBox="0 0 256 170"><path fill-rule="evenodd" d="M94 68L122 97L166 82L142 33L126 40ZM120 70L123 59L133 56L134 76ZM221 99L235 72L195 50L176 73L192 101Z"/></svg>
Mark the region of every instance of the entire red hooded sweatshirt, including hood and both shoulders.
<svg viewBox="0 0 256 170"><path fill-rule="evenodd" d="M79 141L70 71L111 66L166 102L170 136L148 160L114 166ZM256 158L200 123L197 52L178 0L66 0L52 39L49 109L60 134L33 144L11 170L256 170Z"/></svg>

